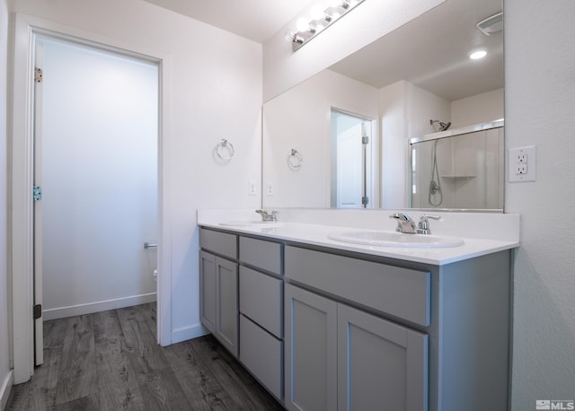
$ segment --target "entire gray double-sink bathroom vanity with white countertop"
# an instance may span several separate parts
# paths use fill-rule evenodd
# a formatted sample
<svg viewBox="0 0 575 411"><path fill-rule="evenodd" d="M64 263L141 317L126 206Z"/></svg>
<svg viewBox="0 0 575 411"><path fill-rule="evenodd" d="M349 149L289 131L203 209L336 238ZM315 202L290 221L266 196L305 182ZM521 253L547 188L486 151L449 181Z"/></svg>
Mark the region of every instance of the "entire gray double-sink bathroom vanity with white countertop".
<svg viewBox="0 0 575 411"><path fill-rule="evenodd" d="M329 240L329 224L199 224L202 324L286 408L507 409L517 240L406 249Z"/></svg>

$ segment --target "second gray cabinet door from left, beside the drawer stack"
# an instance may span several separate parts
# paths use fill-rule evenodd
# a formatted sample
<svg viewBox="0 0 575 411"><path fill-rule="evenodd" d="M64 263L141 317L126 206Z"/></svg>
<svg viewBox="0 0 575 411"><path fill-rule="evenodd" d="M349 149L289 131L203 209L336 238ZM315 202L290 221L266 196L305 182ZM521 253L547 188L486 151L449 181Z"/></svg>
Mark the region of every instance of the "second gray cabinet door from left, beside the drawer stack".
<svg viewBox="0 0 575 411"><path fill-rule="evenodd" d="M216 258L216 333L215 336L237 357L237 263Z"/></svg>

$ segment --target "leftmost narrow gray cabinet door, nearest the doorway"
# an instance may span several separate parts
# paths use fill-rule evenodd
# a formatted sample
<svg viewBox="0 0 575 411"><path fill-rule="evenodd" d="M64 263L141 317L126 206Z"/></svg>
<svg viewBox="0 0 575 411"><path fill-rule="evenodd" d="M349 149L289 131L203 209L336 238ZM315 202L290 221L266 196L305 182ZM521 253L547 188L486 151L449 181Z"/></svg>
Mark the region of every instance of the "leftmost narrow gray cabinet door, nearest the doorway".
<svg viewBox="0 0 575 411"><path fill-rule="evenodd" d="M216 257L199 251L199 320L216 332Z"/></svg>

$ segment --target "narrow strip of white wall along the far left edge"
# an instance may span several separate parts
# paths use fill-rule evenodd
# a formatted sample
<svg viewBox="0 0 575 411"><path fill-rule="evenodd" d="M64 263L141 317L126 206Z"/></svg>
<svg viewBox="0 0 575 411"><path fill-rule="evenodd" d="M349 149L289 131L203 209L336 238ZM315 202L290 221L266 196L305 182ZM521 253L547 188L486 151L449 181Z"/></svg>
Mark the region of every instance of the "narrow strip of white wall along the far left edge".
<svg viewBox="0 0 575 411"><path fill-rule="evenodd" d="M9 295L6 238L6 62L8 59L8 7L0 0L0 409L12 388L10 372Z"/></svg>

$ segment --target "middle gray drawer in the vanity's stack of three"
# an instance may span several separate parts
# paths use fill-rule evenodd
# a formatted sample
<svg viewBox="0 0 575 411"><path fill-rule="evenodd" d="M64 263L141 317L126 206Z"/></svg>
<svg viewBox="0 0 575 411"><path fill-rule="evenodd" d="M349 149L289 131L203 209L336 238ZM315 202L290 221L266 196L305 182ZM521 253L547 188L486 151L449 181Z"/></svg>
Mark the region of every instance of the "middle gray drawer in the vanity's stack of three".
<svg viewBox="0 0 575 411"><path fill-rule="evenodd" d="M283 281L240 267L240 312L278 338L283 337Z"/></svg>

